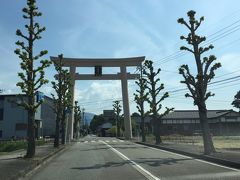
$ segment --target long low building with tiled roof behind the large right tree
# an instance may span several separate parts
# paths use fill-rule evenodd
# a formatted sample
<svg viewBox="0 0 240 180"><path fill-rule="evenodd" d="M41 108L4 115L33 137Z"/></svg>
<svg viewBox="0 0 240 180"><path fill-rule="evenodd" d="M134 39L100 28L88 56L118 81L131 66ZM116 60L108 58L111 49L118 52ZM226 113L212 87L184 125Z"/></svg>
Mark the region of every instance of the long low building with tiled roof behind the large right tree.
<svg viewBox="0 0 240 180"><path fill-rule="evenodd" d="M213 135L239 135L240 116L233 110L208 110L208 123ZM197 110L176 110L162 118L161 134L201 134Z"/></svg>

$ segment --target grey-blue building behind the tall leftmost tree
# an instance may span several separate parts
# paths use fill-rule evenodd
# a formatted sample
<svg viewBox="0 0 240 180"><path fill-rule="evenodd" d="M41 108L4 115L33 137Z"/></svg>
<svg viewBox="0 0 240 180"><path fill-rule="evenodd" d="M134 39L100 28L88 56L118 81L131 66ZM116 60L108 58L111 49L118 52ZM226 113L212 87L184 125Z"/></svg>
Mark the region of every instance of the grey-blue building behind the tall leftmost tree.
<svg viewBox="0 0 240 180"><path fill-rule="evenodd" d="M28 114L16 102L26 95L0 95L0 139L26 138ZM50 108L52 99L45 96L44 103L35 114L36 137L51 136L55 129L55 115Z"/></svg>

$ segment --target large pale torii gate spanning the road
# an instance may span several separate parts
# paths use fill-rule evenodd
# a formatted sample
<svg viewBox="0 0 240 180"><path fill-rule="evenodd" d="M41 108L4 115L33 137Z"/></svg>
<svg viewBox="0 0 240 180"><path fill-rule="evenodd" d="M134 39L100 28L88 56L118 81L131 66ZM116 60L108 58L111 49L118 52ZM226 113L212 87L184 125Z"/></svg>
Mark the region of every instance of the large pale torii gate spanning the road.
<svg viewBox="0 0 240 180"><path fill-rule="evenodd" d="M50 57L52 61L59 61L58 57ZM122 84L122 97L123 97L123 113L124 113L124 136L126 139L132 138L132 126L131 117L129 109L129 98L128 98L128 79L136 79L139 74L130 74L127 72L128 66L141 66L142 62L145 60L145 56L140 57L130 57L130 58L98 58L98 59L88 59L88 58L63 58L64 67L70 68L72 88L70 89L72 93L71 103L74 105L74 89L75 80L121 80ZM76 73L76 67L120 67L120 73L117 74L103 74L103 75L91 75L91 74L79 74ZM68 139L73 139L73 122L74 113L71 111L68 124Z"/></svg>

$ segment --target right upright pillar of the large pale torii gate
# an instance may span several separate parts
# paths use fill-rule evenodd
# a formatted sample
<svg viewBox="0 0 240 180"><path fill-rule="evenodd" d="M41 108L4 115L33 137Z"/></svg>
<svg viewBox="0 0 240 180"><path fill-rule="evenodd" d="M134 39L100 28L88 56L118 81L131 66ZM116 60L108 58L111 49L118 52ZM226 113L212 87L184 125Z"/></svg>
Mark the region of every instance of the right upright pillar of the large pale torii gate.
<svg viewBox="0 0 240 180"><path fill-rule="evenodd" d="M124 136L126 139L132 138L132 124L129 109L128 98L128 81L127 81L127 69L126 66L121 66L121 84L122 84L122 97L123 97L123 113L124 113Z"/></svg>

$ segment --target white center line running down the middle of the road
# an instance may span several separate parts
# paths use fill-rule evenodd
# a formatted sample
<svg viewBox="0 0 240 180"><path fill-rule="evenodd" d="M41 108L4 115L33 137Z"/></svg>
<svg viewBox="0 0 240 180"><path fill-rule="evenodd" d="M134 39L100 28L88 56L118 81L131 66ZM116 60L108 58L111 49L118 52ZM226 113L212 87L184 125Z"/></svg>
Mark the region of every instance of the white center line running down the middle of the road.
<svg viewBox="0 0 240 180"><path fill-rule="evenodd" d="M104 141L102 141L102 143L105 144L106 146L108 146L110 148L110 150L115 152L120 158L122 158L123 160L129 161L130 164L132 165L132 167L134 167L138 172L140 172L147 179L149 179L149 180L160 180L160 178L158 178L158 177L154 176L153 174L151 174L149 171L147 171L142 166L138 165L136 162L134 162L131 159L129 159L127 156L122 154L120 151L116 150L114 147L112 147L108 143L106 143Z"/></svg>

